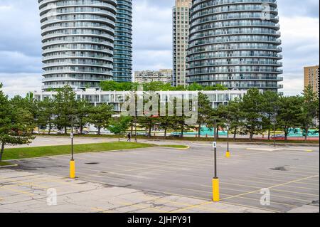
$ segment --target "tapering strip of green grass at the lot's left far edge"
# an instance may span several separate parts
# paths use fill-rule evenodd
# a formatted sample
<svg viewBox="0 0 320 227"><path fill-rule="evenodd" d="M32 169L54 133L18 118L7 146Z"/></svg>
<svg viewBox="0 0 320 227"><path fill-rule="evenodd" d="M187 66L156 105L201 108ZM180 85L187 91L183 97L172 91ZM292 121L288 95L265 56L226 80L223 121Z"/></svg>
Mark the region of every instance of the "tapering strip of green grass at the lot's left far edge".
<svg viewBox="0 0 320 227"><path fill-rule="evenodd" d="M142 144L131 142L105 142L100 144L77 144L74 146L75 154L85 152L108 152L122 149L137 149L144 147L156 147L155 144ZM4 150L4 160L26 159L34 157L47 157L62 154L70 154L70 145L50 146L50 147L23 147L10 148ZM1 164L1 162L0 162Z"/></svg>

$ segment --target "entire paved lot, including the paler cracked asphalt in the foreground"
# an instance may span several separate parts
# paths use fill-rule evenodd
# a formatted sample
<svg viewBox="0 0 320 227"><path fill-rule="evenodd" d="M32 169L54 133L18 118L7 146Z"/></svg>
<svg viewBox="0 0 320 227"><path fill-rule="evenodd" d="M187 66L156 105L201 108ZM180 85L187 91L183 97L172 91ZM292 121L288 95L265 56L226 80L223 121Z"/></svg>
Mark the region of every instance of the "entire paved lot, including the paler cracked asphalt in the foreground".
<svg viewBox="0 0 320 227"><path fill-rule="evenodd" d="M186 144L76 154L76 180L69 156L16 160L0 169L0 212L319 212L319 147L231 144L228 159L219 144L221 201L213 203L211 144ZM46 204L51 188L57 206ZM260 203L261 189L270 205Z"/></svg>

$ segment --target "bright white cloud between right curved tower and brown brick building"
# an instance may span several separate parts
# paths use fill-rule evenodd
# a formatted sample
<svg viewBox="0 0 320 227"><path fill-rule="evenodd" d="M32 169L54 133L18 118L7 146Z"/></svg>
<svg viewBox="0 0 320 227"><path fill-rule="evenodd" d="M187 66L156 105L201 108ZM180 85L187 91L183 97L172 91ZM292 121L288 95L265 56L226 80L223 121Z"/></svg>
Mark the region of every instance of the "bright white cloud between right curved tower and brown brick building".
<svg viewBox="0 0 320 227"><path fill-rule="evenodd" d="M319 64L319 19L282 17L284 94L298 95L304 89L304 66Z"/></svg>

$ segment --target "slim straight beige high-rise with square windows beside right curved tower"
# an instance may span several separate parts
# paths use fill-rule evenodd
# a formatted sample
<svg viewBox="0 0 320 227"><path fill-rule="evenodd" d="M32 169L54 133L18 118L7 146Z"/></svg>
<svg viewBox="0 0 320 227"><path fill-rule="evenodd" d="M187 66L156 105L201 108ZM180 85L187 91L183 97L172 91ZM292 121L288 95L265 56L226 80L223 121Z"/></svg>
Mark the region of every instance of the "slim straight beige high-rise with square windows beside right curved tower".
<svg viewBox="0 0 320 227"><path fill-rule="evenodd" d="M191 0L176 0L173 9L173 63L172 85L186 85L186 53L188 49Z"/></svg>

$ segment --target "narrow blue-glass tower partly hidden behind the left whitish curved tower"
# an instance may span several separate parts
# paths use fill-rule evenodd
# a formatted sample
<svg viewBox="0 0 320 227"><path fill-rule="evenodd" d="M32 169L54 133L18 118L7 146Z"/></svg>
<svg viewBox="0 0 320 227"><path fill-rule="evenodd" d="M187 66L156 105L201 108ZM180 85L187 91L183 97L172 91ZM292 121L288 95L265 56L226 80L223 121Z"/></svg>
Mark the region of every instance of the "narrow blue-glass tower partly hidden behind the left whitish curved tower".
<svg viewBox="0 0 320 227"><path fill-rule="evenodd" d="M117 0L113 66L115 81L132 81L132 0Z"/></svg>

